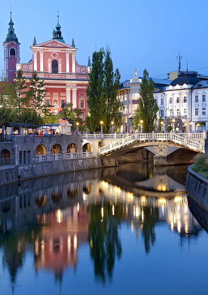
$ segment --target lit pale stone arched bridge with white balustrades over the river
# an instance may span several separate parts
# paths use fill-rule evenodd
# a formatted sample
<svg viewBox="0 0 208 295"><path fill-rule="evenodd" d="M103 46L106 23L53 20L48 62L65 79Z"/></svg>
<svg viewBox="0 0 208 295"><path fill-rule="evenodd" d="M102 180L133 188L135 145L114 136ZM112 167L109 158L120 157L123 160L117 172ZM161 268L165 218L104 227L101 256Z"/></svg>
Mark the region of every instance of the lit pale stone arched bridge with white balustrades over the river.
<svg viewBox="0 0 208 295"><path fill-rule="evenodd" d="M204 153L205 138L206 132L82 135L84 142L99 141L98 156L120 157L145 149L153 154L154 165L193 163L197 153Z"/></svg>

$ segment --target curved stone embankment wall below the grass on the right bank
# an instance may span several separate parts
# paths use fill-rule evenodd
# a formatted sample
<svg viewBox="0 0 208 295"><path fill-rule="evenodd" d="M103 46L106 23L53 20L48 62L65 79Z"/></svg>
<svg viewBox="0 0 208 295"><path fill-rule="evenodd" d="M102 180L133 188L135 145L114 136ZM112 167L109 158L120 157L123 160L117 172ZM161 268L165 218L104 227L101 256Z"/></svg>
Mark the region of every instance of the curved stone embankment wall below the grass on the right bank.
<svg viewBox="0 0 208 295"><path fill-rule="evenodd" d="M208 180L188 167L186 179L187 193L206 211L208 211Z"/></svg>

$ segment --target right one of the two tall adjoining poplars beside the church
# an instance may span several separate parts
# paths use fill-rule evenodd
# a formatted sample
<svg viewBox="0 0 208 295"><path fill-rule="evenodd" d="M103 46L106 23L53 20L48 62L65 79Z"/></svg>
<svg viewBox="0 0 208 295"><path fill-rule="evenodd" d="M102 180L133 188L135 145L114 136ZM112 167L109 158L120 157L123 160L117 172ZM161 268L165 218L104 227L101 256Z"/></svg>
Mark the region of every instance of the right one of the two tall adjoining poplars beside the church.
<svg viewBox="0 0 208 295"><path fill-rule="evenodd" d="M123 103L117 98L117 90L119 89L119 82L121 75L119 70L113 71L113 62L111 58L111 51L106 47L104 60L104 93L106 96L107 115L104 122L104 132L109 133L111 130L111 122L114 122L114 128L117 130L122 125Z"/></svg>

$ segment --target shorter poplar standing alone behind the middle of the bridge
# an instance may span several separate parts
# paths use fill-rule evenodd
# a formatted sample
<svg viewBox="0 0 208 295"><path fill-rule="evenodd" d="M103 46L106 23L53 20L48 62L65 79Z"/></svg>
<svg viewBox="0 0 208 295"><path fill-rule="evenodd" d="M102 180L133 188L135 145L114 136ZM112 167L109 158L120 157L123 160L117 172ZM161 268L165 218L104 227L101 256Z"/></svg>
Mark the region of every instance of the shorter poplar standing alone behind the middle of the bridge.
<svg viewBox="0 0 208 295"><path fill-rule="evenodd" d="M149 78L149 73L146 69L143 72L143 80L140 87L140 99L138 108L135 114L134 124L138 126L140 120L143 120L143 132L152 132L155 130L158 105L154 100L152 91L154 91L154 82Z"/></svg>

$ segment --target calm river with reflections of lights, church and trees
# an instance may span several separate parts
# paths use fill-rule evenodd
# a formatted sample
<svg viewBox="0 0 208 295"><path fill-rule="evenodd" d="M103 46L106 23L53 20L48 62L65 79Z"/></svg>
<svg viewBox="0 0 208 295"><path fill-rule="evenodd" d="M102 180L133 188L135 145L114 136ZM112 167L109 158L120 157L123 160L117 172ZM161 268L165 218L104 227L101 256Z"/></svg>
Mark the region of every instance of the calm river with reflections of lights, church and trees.
<svg viewBox="0 0 208 295"><path fill-rule="evenodd" d="M0 294L206 294L187 166L128 163L0 187Z"/></svg>

